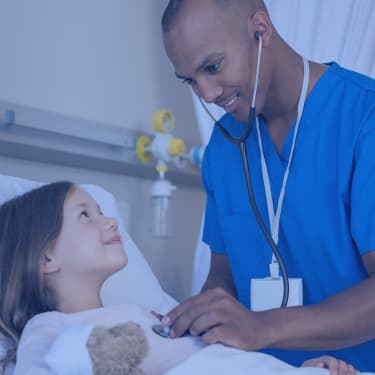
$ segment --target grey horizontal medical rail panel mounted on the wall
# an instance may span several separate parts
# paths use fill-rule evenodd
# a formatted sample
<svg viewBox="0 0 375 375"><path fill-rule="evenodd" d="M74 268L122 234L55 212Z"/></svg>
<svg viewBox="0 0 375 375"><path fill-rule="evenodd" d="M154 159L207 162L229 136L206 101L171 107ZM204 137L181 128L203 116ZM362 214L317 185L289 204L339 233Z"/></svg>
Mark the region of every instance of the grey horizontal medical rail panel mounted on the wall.
<svg viewBox="0 0 375 375"><path fill-rule="evenodd" d="M141 135L145 133L0 101L2 156L154 179L156 161L142 163L136 155ZM168 179L201 186L200 171L190 163L171 163Z"/></svg>

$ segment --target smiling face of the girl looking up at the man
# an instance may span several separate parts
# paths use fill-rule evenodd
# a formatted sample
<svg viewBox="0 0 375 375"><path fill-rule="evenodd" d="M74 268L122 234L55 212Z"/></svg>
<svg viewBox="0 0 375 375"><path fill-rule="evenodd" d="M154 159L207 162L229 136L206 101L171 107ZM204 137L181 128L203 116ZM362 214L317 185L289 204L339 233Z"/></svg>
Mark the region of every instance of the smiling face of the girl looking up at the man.
<svg viewBox="0 0 375 375"><path fill-rule="evenodd" d="M52 272L82 281L104 281L127 264L116 220L77 187L65 200L61 233L47 258Z"/></svg>

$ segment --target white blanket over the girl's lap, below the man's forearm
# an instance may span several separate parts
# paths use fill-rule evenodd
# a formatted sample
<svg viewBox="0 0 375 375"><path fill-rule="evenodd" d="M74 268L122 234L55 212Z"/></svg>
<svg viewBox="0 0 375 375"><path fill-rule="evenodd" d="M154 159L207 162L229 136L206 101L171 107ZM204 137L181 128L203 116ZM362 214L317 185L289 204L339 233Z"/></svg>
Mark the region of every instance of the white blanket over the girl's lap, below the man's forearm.
<svg viewBox="0 0 375 375"><path fill-rule="evenodd" d="M329 371L314 367L294 367L257 352L245 352L223 345L211 345L167 372L166 375L328 375ZM361 373L374 374L374 373Z"/></svg>

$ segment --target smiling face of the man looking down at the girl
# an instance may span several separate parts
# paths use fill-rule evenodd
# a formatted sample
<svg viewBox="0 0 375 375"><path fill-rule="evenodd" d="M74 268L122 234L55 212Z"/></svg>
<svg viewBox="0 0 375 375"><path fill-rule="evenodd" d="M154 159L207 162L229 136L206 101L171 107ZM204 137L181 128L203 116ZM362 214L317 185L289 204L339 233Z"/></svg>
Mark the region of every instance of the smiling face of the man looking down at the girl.
<svg viewBox="0 0 375 375"><path fill-rule="evenodd" d="M246 123L253 94L258 42L251 15L240 5L189 0L169 31L164 46L178 78L207 103L215 103ZM264 101L258 89L257 106Z"/></svg>

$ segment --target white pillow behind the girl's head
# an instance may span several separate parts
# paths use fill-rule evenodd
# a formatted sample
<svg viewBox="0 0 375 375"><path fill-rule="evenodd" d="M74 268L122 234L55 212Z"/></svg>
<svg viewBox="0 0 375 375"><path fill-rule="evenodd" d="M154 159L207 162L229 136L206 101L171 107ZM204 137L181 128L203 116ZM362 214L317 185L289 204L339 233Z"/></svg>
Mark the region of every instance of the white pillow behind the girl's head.
<svg viewBox="0 0 375 375"><path fill-rule="evenodd" d="M0 175L0 204L43 184L19 177ZM103 304L108 306L120 303L137 303L149 309L166 313L175 306L176 301L162 290L145 258L126 233L114 196L97 185L83 184L79 186L92 195L104 215L117 219L119 232L129 259L125 269L117 272L105 282L102 289Z"/></svg>

